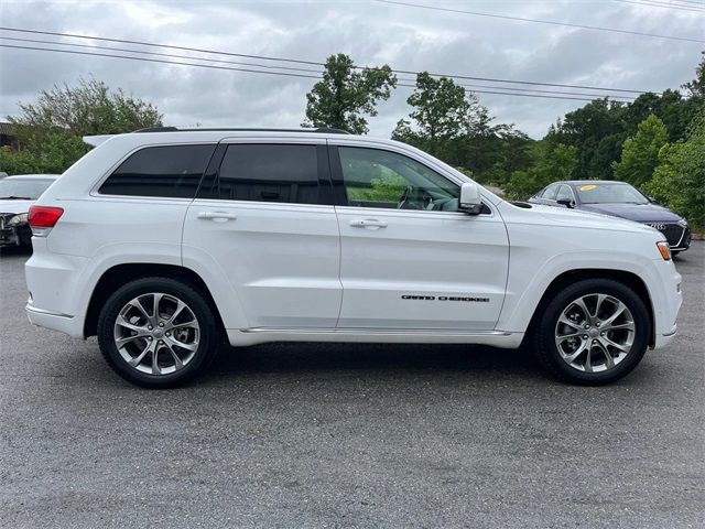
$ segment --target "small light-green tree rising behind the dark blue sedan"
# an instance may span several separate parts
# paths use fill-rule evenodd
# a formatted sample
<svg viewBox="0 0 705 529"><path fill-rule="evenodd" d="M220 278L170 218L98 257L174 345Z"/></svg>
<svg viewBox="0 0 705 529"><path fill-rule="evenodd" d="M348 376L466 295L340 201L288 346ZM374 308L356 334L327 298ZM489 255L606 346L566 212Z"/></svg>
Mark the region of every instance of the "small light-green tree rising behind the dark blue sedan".
<svg viewBox="0 0 705 529"><path fill-rule="evenodd" d="M657 116L649 115L637 133L625 140L621 160L612 163L615 177L640 186L651 180L659 164L659 151L669 141L669 131Z"/></svg>

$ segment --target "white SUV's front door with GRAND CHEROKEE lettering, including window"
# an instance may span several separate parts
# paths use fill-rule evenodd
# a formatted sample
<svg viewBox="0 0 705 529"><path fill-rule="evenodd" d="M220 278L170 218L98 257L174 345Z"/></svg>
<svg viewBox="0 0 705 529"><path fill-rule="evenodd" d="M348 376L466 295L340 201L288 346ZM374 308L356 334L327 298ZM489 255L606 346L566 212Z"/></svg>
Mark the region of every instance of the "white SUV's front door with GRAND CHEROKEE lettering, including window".
<svg viewBox="0 0 705 529"><path fill-rule="evenodd" d="M413 153L330 147L341 237L338 328L494 330L509 245L499 214Z"/></svg>

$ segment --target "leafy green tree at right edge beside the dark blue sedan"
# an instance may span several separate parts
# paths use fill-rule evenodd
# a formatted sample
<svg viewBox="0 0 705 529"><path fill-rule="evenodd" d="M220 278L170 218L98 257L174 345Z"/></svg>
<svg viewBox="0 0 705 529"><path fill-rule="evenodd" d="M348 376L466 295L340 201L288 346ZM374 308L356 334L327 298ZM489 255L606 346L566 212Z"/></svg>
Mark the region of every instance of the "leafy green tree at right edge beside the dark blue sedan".
<svg viewBox="0 0 705 529"><path fill-rule="evenodd" d="M659 166L644 191L684 215L695 231L705 231L705 104L687 139L659 151Z"/></svg>

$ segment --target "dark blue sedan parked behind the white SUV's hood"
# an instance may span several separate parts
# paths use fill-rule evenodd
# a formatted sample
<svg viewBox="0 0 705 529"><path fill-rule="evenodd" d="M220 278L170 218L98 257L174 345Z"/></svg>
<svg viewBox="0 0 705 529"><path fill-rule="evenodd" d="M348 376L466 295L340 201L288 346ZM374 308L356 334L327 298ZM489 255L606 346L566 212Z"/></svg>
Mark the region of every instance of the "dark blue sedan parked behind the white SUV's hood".
<svg viewBox="0 0 705 529"><path fill-rule="evenodd" d="M532 204L600 213L646 224L661 231L671 253L691 246L691 228L677 213L658 205L634 186L611 180L572 180L555 182L529 198Z"/></svg>

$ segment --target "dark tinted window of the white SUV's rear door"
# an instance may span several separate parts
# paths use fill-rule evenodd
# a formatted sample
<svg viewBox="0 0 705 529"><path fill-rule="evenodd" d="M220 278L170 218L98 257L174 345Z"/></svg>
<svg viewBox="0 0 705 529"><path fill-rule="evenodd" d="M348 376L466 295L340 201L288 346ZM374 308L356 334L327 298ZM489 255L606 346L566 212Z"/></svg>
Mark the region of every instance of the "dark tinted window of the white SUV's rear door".
<svg viewBox="0 0 705 529"><path fill-rule="evenodd" d="M220 199L318 204L316 145L228 145L216 186Z"/></svg>

